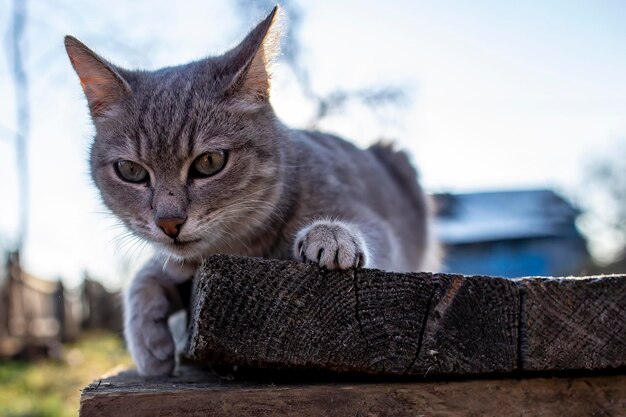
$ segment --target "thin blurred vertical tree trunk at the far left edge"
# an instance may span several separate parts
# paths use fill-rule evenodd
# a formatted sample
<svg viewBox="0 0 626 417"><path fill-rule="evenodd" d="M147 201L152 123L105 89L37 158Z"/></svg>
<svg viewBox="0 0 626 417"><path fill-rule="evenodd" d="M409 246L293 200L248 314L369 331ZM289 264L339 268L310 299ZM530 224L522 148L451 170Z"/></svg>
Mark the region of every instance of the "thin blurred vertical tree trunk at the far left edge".
<svg viewBox="0 0 626 417"><path fill-rule="evenodd" d="M28 95L28 76L24 68L26 50L24 30L27 21L27 1L13 0L13 13L7 33L7 55L11 63L11 74L15 82L15 101L17 108L17 129L15 131L15 154L18 170L19 225L17 250L21 250L28 233L28 141L30 136L30 104Z"/></svg>

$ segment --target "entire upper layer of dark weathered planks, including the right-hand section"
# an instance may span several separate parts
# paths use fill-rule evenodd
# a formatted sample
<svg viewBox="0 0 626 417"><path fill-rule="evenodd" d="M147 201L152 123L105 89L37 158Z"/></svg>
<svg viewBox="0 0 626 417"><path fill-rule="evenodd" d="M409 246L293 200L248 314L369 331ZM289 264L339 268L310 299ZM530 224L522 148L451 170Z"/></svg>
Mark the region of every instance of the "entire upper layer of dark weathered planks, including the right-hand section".
<svg viewBox="0 0 626 417"><path fill-rule="evenodd" d="M214 256L196 277L189 355L370 374L626 365L626 277L332 272Z"/></svg>

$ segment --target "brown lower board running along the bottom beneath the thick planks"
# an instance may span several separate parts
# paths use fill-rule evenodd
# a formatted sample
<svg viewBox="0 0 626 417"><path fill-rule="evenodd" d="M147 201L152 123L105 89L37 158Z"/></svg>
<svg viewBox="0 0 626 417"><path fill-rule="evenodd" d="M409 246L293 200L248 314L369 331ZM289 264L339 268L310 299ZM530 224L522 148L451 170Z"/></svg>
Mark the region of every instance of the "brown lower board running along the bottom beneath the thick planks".
<svg viewBox="0 0 626 417"><path fill-rule="evenodd" d="M80 416L624 416L626 375L428 382L229 382L183 368L95 381Z"/></svg>

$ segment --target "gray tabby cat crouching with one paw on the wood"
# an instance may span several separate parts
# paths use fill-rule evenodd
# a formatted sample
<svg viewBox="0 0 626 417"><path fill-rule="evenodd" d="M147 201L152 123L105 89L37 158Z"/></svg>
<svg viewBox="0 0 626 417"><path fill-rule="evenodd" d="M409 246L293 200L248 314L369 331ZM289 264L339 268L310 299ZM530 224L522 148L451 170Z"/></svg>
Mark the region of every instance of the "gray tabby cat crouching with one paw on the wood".
<svg viewBox="0 0 626 417"><path fill-rule="evenodd" d="M156 71L114 66L65 38L96 127L95 184L156 250L124 300L126 340L143 375L173 371L172 295L206 255L434 267L427 199L406 155L276 118L268 70L276 11L225 54Z"/></svg>

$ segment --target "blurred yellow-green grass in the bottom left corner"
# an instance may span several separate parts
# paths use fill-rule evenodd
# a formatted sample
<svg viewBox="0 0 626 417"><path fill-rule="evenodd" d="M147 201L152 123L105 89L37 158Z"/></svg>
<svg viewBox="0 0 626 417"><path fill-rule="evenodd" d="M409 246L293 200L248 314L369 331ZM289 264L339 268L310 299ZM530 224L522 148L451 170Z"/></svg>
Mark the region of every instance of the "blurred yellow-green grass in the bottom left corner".
<svg viewBox="0 0 626 417"><path fill-rule="evenodd" d="M0 416L76 416L80 389L118 365L131 360L110 333L85 334L64 347L63 360L0 362Z"/></svg>

